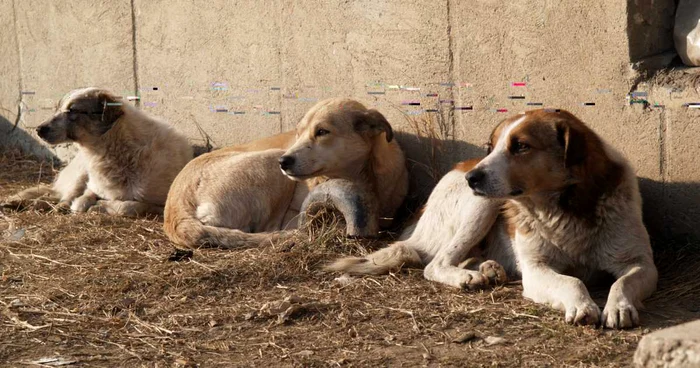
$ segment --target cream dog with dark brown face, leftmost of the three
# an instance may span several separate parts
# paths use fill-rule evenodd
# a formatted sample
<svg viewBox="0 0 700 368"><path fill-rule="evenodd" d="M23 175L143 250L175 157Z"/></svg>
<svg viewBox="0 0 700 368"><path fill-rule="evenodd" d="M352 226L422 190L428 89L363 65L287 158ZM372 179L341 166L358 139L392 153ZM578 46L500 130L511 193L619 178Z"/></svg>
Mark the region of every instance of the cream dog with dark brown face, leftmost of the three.
<svg viewBox="0 0 700 368"><path fill-rule="evenodd" d="M162 214L170 184L192 159L192 147L175 129L99 88L68 93L37 133L50 144L75 143L78 153L53 186L26 189L3 207L41 199L73 212Z"/></svg>

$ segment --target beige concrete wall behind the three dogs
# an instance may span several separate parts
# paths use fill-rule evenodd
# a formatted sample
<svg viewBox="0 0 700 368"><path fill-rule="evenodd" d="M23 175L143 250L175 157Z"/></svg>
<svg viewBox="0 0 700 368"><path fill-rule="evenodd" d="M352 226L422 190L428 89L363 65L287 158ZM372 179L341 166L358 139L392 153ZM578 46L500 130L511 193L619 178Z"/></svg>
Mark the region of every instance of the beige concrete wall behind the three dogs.
<svg viewBox="0 0 700 368"><path fill-rule="evenodd" d="M0 141L7 145L68 157L67 148L39 148L31 133L7 132L18 104L19 126L31 130L80 86L140 95L143 109L194 144L215 147L291 129L319 99L349 96L403 131L409 156L437 160L411 164L423 178L416 190L425 193L426 177L438 175L428 166L444 171L482 154L500 119L539 102L569 109L627 154L645 178L655 233L699 234L698 110L681 104L700 98L683 83L676 96L640 83L635 70L672 49L673 0L70 4L0 2ZM632 91L667 106L630 104ZM413 101L421 105L402 104ZM439 112L425 111L432 109ZM415 136L426 124L436 132L437 155Z"/></svg>

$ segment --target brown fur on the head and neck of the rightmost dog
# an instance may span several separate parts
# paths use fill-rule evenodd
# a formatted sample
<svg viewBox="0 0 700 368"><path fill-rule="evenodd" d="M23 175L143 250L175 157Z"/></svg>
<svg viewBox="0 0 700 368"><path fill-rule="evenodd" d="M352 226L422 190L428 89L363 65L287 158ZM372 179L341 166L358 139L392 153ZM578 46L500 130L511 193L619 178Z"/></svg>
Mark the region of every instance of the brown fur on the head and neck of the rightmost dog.
<svg viewBox="0 0 700 368"><path fill-rule="evenodd" d="M598 135L568 111L527 115L507 137L509 150L516 142L531 147L527 154L511 157L511 185L529 192L559 191L563 210L592 220L601 196L620 184L620 164L607 156Z"/></svg>

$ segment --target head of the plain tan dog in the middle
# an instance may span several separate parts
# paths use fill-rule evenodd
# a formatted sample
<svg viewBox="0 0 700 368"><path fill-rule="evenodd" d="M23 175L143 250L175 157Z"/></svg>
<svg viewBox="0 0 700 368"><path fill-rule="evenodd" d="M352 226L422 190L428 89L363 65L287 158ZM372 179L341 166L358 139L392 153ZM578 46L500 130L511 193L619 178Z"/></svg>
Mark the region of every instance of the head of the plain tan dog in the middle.
<svg viewBox="0 0 700 368"><path fill-rule="evenodd" d="M352 177L366 166L377 139L391 142L393 137L379 111L349 99L328 99L299 122L297 140L280 157L280 168L293 180Z"/></svg>

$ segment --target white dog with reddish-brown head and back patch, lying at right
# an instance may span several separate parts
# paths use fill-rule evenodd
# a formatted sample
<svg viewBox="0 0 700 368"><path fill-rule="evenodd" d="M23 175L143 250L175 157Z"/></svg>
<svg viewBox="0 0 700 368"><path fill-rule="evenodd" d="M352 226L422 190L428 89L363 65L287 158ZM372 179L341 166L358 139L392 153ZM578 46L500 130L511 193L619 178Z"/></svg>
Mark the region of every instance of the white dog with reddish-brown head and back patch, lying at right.
<svg viewBox="0 0 700 368"><path fill-rule="evenodd" d="M633 170L561 110L498 124L486 158L447 173L401 239L328 268L382 274L425 265L427 279L469 289L503 282L507 272L522 277L526 298L563 311L567 322L609 328L638 325L637 309L656 289ZM488 261L460 266L479 252ZM584 285L601 272L616 278L602 315Z"/></svg>

